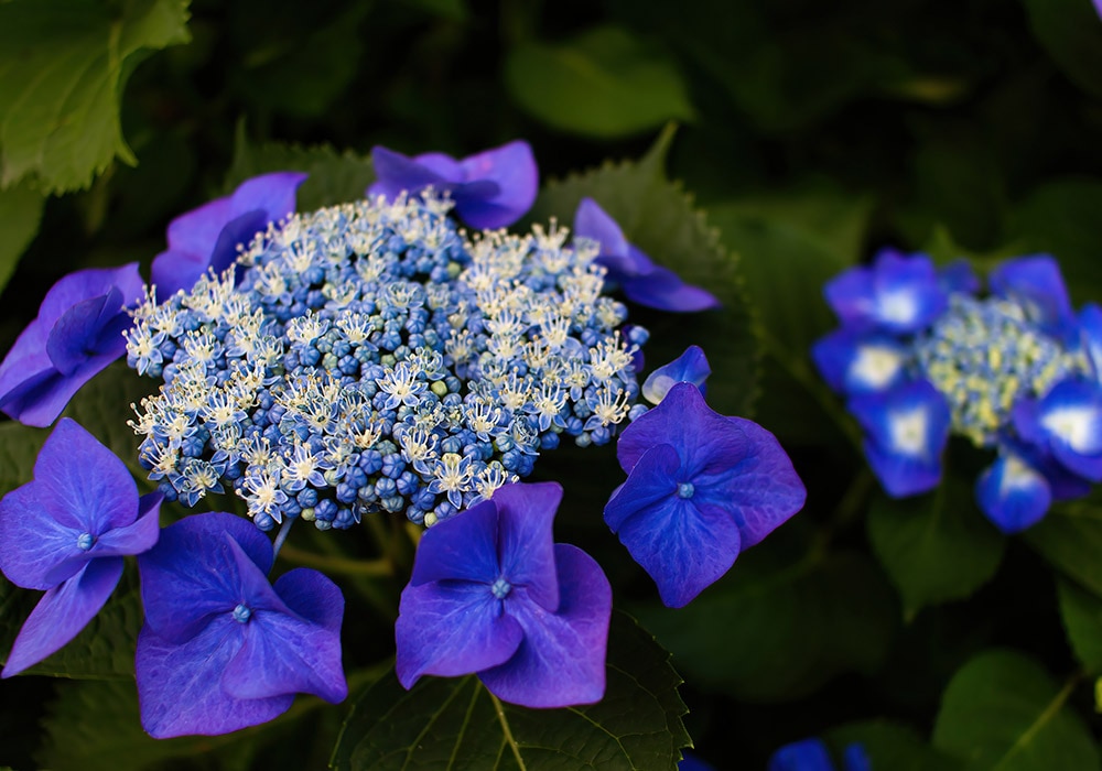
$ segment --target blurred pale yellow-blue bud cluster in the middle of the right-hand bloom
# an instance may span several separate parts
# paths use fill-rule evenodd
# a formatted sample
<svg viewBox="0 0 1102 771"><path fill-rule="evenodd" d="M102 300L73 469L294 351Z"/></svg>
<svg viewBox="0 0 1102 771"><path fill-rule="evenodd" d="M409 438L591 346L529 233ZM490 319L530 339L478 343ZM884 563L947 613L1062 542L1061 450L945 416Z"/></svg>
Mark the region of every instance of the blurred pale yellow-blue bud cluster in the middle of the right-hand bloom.
<svg viewBox="0 0 1102 771"><path fill-rule="evenodd" d="M1040 397L1068 374L1085 373L1081 355L1034 327L1009 300L949 298L949 310L915 341L918 372L949 404L952 427L991 445L1019 397Z"/></svg>

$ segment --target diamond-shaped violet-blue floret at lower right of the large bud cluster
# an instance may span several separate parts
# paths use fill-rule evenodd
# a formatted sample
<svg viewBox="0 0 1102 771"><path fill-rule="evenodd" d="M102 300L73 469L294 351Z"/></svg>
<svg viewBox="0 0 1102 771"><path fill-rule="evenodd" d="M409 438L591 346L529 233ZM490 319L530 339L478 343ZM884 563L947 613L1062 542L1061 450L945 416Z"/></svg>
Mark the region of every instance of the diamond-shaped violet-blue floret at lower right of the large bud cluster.
<svg viewBox="0 0 1102 771"><path fill-rule="evenodd" d="M806 490L776 437L711 410L691 382L629 425L616 445L627 481L605 522L680 608L803 507Z"/></svg>

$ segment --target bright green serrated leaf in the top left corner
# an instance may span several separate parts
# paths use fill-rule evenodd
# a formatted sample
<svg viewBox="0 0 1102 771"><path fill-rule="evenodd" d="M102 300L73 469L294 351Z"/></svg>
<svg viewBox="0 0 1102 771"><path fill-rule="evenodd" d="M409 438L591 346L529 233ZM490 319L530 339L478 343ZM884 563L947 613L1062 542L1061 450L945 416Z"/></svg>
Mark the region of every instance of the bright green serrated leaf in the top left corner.
<svg viewBox="0 0 1102 771"><path fill-rule="evenodd" d="M188 40L186 0L0 4L0 186L87 187L116 158L120 97L144 52Z"/></svg>

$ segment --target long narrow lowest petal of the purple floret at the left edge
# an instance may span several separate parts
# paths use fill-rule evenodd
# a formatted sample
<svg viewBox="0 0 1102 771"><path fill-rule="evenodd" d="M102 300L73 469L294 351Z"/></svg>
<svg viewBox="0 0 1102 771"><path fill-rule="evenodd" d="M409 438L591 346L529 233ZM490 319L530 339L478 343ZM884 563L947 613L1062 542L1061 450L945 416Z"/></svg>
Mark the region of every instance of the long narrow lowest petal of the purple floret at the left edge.
<svg viewBox="0 0 1102 771"><path fill-rule="evenodd" d="M2 677L11 677L61 650L99 612L122 577L120 557L93 560L46 591L12 645Z"/></svg>

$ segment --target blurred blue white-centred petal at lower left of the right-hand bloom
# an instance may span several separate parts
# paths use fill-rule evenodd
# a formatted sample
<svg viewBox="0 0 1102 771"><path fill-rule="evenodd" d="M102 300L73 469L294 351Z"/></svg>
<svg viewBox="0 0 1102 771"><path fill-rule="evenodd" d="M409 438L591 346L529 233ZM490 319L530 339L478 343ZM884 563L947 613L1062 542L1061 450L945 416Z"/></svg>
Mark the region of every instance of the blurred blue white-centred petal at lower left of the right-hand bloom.
<svg viewBox="0 0 1102 771"><path fill-rule="evenodd" d="M903 498L937 487L950 415L944 397L929 381L853 399L850 412L867 434L865 456L889 496Z"/></svg>

